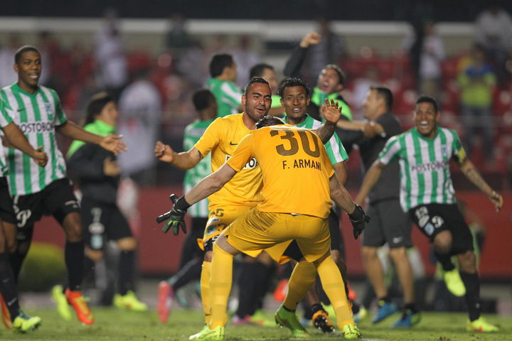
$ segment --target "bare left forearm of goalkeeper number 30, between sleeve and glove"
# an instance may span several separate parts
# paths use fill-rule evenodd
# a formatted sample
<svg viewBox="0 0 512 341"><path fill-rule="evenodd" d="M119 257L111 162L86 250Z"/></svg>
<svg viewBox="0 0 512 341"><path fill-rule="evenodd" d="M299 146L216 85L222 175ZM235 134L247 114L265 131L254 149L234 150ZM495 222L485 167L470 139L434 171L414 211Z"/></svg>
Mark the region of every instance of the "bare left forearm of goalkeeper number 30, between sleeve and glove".
<svg viewBox="0 0 512 341"><path fill-rule="evenodd" d="M193 205L203 200L205 197L209 197L220 190L220 188L223 188L223 185L231 180L236 173L237 172L231 168L228 163L224 163L217 171L199 181L199 183L185 195L186 202Z"/></svg>

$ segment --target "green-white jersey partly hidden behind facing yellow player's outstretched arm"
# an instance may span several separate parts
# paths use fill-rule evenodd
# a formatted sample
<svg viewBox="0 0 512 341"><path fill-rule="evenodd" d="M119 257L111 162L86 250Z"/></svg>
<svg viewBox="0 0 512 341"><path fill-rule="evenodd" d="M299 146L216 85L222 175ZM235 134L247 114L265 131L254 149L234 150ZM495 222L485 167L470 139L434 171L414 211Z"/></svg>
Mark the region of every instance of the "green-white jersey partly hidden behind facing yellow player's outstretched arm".
<svg viewBox="0 0 512 341"><path fill-rule="evenodd" d="M204 131L212 122L213 119L207 121L196 120L191 124L188 124L183 134L183 150L189 151L193 146L195 146L196 142L201 139ZM185 180L183 180L183 192L190 192L190 190L195 185L197 185L199 181L203 180L203 178L206 178L206 176L210 175L210 173L211 153L208 153L194 168L186 171ZM208 217L208 198L196 202L194 205L188 208L187 213L193 218Z"/></svg>

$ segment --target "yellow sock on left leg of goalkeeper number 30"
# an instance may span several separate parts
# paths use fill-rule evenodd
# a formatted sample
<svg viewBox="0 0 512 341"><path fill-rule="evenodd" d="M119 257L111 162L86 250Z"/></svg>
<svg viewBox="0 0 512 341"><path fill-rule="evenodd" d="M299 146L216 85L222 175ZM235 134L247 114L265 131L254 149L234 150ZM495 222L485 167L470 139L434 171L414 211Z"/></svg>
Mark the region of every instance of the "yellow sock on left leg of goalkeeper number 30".
<svg viewBox="0 0 512 341"><path fill-rule="evenodd" d="M228 323L228 298L233 282L233 254L213 244L213 258L210 278L212 315L210 329L225 326Z"/></svg>

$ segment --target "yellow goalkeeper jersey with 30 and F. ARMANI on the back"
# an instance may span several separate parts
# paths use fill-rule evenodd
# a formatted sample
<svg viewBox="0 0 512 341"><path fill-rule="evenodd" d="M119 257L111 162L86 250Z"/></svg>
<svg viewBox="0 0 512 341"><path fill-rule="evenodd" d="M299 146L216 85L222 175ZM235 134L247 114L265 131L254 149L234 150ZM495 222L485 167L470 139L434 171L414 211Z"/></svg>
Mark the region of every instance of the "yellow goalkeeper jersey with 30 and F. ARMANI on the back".
<svg viewBox="0 0 512 341"><path fill-rule="evenodd" d="M329 215L329 178L334 169L314 132L287 124L253 130L240 141L228 165L243 171L252 158L260 163L263 176L258 210L321 218Z"/></svg>

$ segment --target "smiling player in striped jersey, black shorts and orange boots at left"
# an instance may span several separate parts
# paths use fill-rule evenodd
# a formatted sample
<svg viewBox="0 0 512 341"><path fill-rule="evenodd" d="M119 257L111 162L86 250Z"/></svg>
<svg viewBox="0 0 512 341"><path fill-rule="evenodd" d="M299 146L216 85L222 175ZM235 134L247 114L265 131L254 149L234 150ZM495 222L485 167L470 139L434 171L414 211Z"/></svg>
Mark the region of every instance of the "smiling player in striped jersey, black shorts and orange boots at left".
<svg viewBox="0 0 512 341"><path fill-rule="evenodd" d="M126 146L119 140L121 136L91 134L66 119L57 93L38 85L41 53L37 48L31 45L19 48L14 62L18 81L0 90L0 97L28 141L43 146L49 165L48 168L36 167L21 151L13 148L7 151L7 180L17 219L17 228L6 227L8 243L16 245L16 251L11 253L14 276L17 278L30 247L33 225L43 214L53 215L66 236L65 263L69 281L66 299L82 323L92 324L92 313L80 292L84 260L80 207L66 178L65 161L58 150L55 132L71 139L100 144L114 153L125 150Z"/></svg>

